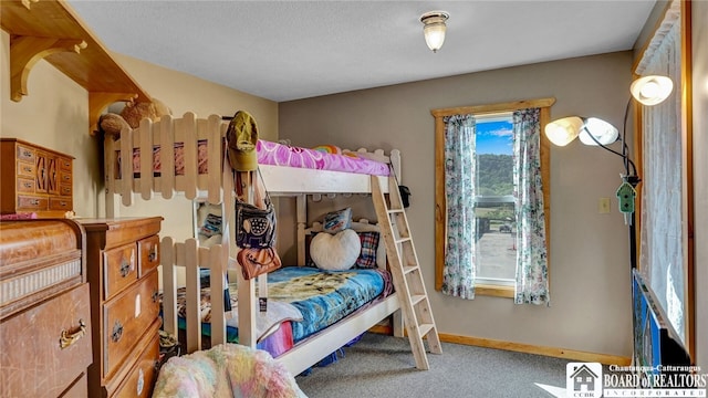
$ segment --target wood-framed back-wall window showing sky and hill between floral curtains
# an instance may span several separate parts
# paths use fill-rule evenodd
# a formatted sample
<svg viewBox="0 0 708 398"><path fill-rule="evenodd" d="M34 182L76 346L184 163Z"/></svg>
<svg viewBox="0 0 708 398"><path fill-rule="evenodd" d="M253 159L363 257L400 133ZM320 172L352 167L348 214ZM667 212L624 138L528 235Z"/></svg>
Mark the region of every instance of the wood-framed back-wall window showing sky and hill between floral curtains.
<svg viewBox="0 0 708 398"><path fill-rule="evenodd" d="M456 145L457 148L469 147L467 155L473 160L461 161L462 164L473 164L473 170L469 172L473 175L473 188L470 189L473 201L471 208L471 217L473 219L473 243L469 245L471 260L465 259L472 264L471 283L473 291L471 294L462 292L460 297L472 298L475 294L494 295L502 297L516 297L517 303L534 302L520 301L519 280L517 279L517 269L523 270L517 260L517 250L521 234L518 231L517 218L525 217L524 212L517 211L516 203L519 200L513 195L514 190L514 157L512 144L513 139L513 121L514 114L518 116L520 111L537 109L538 125L543 126L550 121L550 106L555 102L554 98L542 98L533 101L521 101L513 103L467 106L446 109L435 109L433 115L436 119L436 290L445 291L444 281L446 274L446 251L452 251L449 248L451 240L448 234L450 220L467 220L468 217L460 217L454 211L454 205L449 203L448 188L446 184L446 175L449 172L451 163L446 157L446 150L449 143L446 142L446 128L448 122L451 123L456 117L468 117L468 128L471 128L473 137L469 142L462 142ZM465 116L466 115L466 116ZM456 119L457 121L457 119ZM458 122L455 122L458 123ZM545 229L545 237L550 237L549 223L549 143L543 134L538 134L540 139L540 180L543 181L543 218L541 224ZM473 142L472 142L473 140ZM462 150L464 151L464 150ZM465 155L464 155L465 156ZM454 164L454 163L452 163ZM516 165L518 167L518 164ZM537 170L539 167L537 167ZM462 195L464 196L464 195ZM540 201L539 201L540 203ZM522 206L521 209L524 207ZM539 212L540 213L540 212ZM523 219L522 219L523 220ZM466 223L460 221L458 223ZM469 224L469 223L468 223ZM527 233L525 230L523 233ZM458 240L459 241L459 240ZM466 248L462 244L458 248ZM537 244L538 247L538 244ZM549 252L549 239L545 239L543 255ZM471 250L473 248L473 250ZM462 251L462 250L460 250ZM519 264L518 264L519 263ZM546 269L548 270L548 269ZM523 283L523 282L521 282ZM449 291L449 286L446 286ZM462 289L464 290L464 289ZM538 304L538 302L534 302Z"/></svg>

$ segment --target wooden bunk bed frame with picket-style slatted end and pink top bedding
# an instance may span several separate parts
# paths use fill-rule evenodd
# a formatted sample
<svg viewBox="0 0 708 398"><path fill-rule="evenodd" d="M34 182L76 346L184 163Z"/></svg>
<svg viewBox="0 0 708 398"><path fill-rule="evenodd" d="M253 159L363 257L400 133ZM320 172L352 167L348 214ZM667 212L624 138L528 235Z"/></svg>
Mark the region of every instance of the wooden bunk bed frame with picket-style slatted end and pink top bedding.
<svg viewBox="0 0 708 398"><path fill-rule="evenodd" d="M183 326L188 353L202 348L200 285L206 281L202 281L204 273L200 270L209 270L210 292L222 292L228 289L227 270L239 266L233 260L237 249L229 239L233 235L229 220L233 220L232 192L235 189L232 171L228 163L225 163L223 156L226 129L227 124L220 116L211 115L201 119L192 113L186 113L181 118L165 116L156 123L145 119L139 128L125 128L121 132L118 139L106 137L104 142L108 217L114 214L118 200L124 206L131 206L134 195L148 200L154 193L170 199L175 192L183 192L188 200L201 198L211 206L222 203L223 230L221 240L211 242L216 244L205 247L200 244L197 237L184 242L164 237L160 243L164 329L174 335L179 334L178 292L180 287L177 286L177 273L179 269L184 269L185 286L181 287L181 296L187 304L184 305L181 313L186 320ZM398 172L400 170L400 155L397 150L393 150L389 155L384 155L383 150L374 153L358 150L331 157L322 150L294 148L262 140L258 146L259 169L270 195L295 198L298 265L301 268L306 262L308 235L321 229L321 226L310 228L306 224L308 196L371 193L375 189L374 185L377 186L376 189L388 192L391 189L388 174L391 170ZM142 156L142 154L152 154L152 156ZM344 166L350 168L345 169ZM325 169L330 167L334 167L334 170ZM399 176L397 178L399 180ZM376 227L365 228L371 230ZM386 279L382 276L387 273L386 261L378 259L376 265L375 269L378 271L362 271L368 273L369 277L372 277L371 274L376 273L379 274L377 277ZM312 270L302 268L299 272L306 273ZM258 285L252 279L243 279L241 272L233 273L237 275L236 285L238 286L236 293L238 310L235 317L239 344L250 347L261 344L261 347L268 348L268 338L283 338L282 334L287 334L287 326L266 327L270 332L277 331L270 334L263 332L262 325L259 327L261 317L258 311L259 290L272 291L272 284L284 281L283 275L298 272L290 268L283 268L282 271L279 275L271 275L273 277L270 277L270 284L264 281L267 277L259 277ZM303 333L293 338L292 345L285 347L287 350L275 350L273 356L293 375L306 370L400 308L397 293L392 292L389 284L382 285L374 296L374 300L372 297L364 300L366 305L363 308L335 320L336 322L326 328ZM270 304L273 302L271 301ZM394 323L394 332L395 335L403 336L400 327L403 323L399 317L397 320L398 322ZM293 317L284 318L281 324L285 325L292 321ZM229 320L225 311L225 301L210 301L208 334L212 346L228 342L229 326L233 326L233 320ZM439 342L437 344L439 345ZM280 346L282 347L282 344Z"/></svg>

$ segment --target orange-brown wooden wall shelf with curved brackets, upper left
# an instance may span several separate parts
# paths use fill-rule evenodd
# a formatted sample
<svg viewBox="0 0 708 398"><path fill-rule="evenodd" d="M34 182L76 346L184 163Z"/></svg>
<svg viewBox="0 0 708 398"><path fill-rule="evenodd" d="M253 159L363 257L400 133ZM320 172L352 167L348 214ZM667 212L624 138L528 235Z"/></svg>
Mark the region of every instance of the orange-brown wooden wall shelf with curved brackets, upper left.
<svg viewBox="0 0 708 398"><path fill-rule="evenodd" d="M30 71L46 60L88 91L90 132L103 109L118 101L150 96L113 59L69 4L54 0L2 0L0 24L10 34L10 96L28 95Z"/></svg>

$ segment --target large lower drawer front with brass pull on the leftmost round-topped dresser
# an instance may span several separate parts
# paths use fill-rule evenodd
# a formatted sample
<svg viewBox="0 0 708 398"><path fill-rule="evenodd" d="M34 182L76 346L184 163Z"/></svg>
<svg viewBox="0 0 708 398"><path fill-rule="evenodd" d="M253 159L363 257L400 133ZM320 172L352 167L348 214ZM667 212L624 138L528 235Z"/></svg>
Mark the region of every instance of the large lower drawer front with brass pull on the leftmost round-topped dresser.
<svg viewBox="0 0 708 398"><path fill-rule="evenodd" d="M0 323L0 396L58 397L86 371L90 303L84 283Z"/></svg>

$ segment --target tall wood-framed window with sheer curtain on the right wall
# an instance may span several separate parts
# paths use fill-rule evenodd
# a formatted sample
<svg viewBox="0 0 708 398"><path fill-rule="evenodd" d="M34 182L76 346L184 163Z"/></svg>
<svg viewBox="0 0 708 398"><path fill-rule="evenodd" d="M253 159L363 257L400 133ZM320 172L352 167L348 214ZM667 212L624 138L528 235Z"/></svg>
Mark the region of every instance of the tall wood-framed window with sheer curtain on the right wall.
<svg viewBox="0 0 708 398"><path fill-rule="evenodd" d="M642 170L638 268L648 277L658 306L680 336L691 357L696 355L695 286L691 251L693 123L690 113L690 3L669 2L634 71L660 74L674 81L664 103L643 106L639 115ZM688 94L686 92L688 87Z"/></svg>

